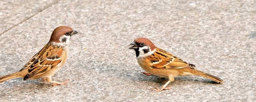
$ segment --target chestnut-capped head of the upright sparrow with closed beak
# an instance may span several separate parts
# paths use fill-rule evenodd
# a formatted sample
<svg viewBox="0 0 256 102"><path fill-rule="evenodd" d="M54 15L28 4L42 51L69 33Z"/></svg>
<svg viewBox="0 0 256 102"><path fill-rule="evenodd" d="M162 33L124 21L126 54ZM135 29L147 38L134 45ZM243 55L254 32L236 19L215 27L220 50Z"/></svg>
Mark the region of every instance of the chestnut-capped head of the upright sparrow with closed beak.
<svg viewBox="0 0 256 102"><path fill-rule="evenodd" d="M52 32L50 42L54 42L61 45L62 44L68 45L71 35L74 35L77 33L78 32L76 32L69 26L59 26L55 28L54 31Z"/></svg>

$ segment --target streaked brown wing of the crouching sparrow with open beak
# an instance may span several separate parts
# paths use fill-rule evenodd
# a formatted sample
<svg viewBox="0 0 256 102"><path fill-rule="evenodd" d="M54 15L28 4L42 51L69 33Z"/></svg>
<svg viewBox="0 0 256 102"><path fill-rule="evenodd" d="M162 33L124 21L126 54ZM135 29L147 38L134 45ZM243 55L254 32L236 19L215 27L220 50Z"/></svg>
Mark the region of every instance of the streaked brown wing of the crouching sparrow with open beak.
<svg viewBox="0 0 256 102"><path fill-rule="evenodd" d="M180 69L180 68L195 68L193 64L189 64L180 58L168 53L162 49L157 49L156 52L148 57L151 68L157 69Z"/></svg>

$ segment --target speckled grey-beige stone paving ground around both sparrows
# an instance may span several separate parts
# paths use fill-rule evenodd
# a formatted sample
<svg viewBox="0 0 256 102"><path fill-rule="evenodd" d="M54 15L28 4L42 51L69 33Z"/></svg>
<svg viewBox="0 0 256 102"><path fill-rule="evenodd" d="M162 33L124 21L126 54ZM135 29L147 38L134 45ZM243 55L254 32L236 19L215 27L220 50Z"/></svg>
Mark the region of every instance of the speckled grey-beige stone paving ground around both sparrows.
<svg viewBox="0 0 256 102"><path fill-rule="evenodd" d="M19 71L69 25L67 63L53 77L64 86L21 78L0 84L1 102L252 102L256 98L256 2L253 0L2 0L0 75ZM171 90L154 92L166 79L140 75L128 45L137 37L222 78L176 77Z"/></svg>

